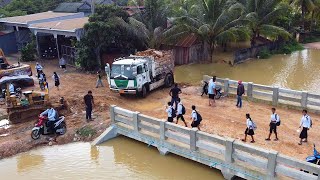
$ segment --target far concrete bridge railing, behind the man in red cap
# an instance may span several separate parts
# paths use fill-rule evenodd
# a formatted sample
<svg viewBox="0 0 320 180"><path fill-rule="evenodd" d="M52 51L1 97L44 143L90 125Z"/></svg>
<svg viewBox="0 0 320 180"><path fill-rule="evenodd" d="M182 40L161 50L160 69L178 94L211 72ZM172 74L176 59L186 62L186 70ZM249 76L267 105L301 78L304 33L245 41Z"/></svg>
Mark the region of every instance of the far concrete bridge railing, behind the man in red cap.
<svg viewBox="0 0 320 180"><path fill-rule="evenodd" d="M203 80L209 81L210 76L204 75ZM238 81L217 78L224 92L236 95ZM320 110L320 95L307 91L296 91L291 89L243 82L249 100L261 100L271 103L274 106L288 105L298 109L309 109L318 112Z"/></svg>

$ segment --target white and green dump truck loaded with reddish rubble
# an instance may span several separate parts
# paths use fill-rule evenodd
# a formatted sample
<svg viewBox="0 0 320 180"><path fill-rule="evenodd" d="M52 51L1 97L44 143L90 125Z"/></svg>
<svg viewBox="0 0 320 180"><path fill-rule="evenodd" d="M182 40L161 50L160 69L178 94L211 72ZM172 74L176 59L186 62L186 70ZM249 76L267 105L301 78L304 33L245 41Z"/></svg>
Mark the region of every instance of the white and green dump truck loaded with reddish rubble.
<svg viewBox="0 0 320 180"><path fill-rule="evenodd" d="M118 58L105 66L111 91L146 97L148 92L174 83L171 51L147 50Z"/></svg>

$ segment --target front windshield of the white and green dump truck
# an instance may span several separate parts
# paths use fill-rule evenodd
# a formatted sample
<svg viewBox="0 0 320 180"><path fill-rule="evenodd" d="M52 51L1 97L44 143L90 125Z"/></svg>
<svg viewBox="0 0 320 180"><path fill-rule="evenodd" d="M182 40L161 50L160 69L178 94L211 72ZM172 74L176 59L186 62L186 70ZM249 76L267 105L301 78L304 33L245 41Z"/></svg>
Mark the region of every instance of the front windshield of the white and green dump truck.
<svg viewBox="0 0 320 180"><path fill-rule="evenodd" d="M130 65L118 65L114 64L111 68L111 78L112 79L134 79L133 76L134 66Z"/></svg>

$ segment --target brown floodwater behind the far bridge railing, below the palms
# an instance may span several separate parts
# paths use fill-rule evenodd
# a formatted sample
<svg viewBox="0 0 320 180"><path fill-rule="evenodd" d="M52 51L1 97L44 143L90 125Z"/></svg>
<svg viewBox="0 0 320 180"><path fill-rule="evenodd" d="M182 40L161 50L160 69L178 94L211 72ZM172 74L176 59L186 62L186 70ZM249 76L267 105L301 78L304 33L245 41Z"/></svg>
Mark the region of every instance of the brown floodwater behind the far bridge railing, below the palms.
<svg viewBox="0 0 320 180"><path fill-rule="evenodd" d="M228 64L194 64L175 69L177 82L196 84L203 75L320 93L320 50L305 49L290 55L247 61L234 67Z"/></svg>

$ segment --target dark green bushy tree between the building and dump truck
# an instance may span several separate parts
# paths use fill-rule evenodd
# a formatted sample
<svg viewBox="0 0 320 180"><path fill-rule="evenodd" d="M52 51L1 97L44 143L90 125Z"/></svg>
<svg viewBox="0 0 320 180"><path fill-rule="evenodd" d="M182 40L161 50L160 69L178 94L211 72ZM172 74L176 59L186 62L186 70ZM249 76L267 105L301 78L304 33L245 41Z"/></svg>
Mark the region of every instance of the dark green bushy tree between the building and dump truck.
<svg viewBox="0 0 320 180"><path fill-rule="evenodd" d="M97 6L85 25L85 34L79 43L77 62L86 70L101 66L101 52L110 48L125 53L146 47L146 27L121 8L113 5Z"/></svg>

